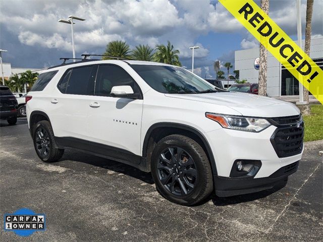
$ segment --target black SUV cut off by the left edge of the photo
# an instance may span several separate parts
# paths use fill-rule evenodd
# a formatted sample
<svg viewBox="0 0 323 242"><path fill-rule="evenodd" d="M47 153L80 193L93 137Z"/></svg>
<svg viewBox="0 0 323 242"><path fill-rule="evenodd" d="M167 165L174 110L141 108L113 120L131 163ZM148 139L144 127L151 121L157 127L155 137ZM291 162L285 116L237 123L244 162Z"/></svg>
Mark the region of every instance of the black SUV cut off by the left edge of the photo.
<svg viewBox="0 0 323 242"><path fill-rule="evenodd" d="M6 119L10 125L17 123L18 102L6 86L0 86L0 119Z"/></svg>

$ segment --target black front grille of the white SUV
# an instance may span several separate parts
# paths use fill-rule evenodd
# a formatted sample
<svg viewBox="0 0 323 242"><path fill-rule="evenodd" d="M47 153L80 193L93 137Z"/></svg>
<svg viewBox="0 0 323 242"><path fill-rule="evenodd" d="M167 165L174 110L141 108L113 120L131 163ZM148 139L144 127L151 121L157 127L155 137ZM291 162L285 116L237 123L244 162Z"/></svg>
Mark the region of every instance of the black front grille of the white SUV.
<svg viewBox="0 0 323 242"><path fill-rule="evenodd" d="M303 150L304 123L301 116L275 117L271 123L277 130L271 138L278 157L300 154Z"/></svg>

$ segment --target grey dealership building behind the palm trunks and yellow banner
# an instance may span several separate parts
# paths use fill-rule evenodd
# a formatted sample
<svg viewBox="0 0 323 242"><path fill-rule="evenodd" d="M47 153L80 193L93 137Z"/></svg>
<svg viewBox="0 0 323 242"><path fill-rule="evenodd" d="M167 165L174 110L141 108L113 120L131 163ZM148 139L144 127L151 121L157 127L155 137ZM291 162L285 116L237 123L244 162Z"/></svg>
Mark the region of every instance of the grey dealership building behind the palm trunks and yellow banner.
<svg viewBox="0 0 323 242"><path fill-rule="evenodd" d="M304 49L305 41L302 47ZM311 59L323 69L323 37L311 39ZM239 70L240 80L258 83L259 48L235 51L235 70ZM323 81L323 80L321 80ZM298 80L277 59L268 52L267 57L267 93L271 97L299 95Z"/></svg>

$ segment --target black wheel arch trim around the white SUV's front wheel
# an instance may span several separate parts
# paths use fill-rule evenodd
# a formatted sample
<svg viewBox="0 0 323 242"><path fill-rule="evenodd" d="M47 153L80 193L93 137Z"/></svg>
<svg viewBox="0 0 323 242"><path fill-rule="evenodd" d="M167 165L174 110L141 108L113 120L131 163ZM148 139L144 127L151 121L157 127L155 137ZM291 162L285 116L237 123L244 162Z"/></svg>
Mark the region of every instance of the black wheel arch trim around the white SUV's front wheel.
<svg viewBox="0 0 323 242"><path fill-rule="evenodd" d="M171 134L181 134L188 136L189 138L192 138L195 140L203 150L205 151L210 166L212 169L213 175L217 175L217 166L216 162L211 150L211 147L209 143L207 142L204 135L197 129L184 125L184 124L178 124L178 123L156 123L150 126L148 129L144 141L143 141L143 147L142 147L142 156L146 158L146 167L147 171L150 171L150 157L151 153L154 149L155 144L162 138L171 135Z"/></svg>

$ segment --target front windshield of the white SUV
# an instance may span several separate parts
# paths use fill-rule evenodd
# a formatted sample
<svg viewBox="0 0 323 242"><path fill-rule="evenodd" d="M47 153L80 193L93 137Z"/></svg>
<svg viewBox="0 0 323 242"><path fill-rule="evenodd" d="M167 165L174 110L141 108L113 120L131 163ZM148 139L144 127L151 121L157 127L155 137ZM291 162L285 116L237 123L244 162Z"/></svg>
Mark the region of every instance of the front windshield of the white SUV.
<svg viewBox="0 0 323 242"><path fill-rule="evenodd" d="M180 94L217 92L212 85L183 68L154 65L131 67L157 92Z"/></svg>

